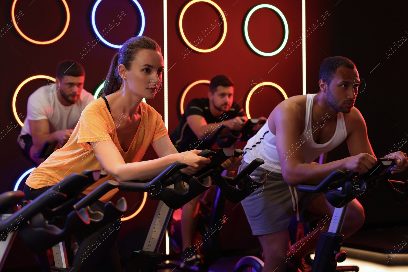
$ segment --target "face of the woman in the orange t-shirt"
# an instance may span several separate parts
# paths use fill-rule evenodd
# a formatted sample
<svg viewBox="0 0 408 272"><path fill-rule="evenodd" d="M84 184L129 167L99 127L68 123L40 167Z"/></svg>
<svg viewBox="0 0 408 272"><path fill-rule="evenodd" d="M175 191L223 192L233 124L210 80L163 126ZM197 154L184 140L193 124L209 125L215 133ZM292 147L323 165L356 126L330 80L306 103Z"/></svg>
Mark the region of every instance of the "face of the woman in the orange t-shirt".
<svg viewBox="0 0 408 272"><path fill-rule="evenodd" d="M131 62L130 70L125 71L129 88L140 97L153 98L162 84L164 62L162 53L142 49Z"/></svg>

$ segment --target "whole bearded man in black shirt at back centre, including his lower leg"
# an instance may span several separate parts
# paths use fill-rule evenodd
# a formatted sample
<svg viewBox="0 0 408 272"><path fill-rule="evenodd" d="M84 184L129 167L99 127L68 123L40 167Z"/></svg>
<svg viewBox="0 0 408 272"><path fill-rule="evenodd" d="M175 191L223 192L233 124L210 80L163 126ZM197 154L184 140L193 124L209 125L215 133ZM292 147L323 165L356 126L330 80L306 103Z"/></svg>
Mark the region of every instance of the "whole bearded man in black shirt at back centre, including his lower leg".
<svg viewBox="0 0 408 272"><path fill-rule="evenodd" d="M230 147L240 137L239 130L247 118L244 109L233 102L233 86L229 77L217 75L211 79L208 98L193 99L187 104L179 126L170 135L177 151L211 149L216 142L220 147ZM226 139L218 139L220 132L226 127L230 129ZM196 197L182 208L184 252L181 267L201 263L198 246L192 243L200 198L201 196Z"/></svg>

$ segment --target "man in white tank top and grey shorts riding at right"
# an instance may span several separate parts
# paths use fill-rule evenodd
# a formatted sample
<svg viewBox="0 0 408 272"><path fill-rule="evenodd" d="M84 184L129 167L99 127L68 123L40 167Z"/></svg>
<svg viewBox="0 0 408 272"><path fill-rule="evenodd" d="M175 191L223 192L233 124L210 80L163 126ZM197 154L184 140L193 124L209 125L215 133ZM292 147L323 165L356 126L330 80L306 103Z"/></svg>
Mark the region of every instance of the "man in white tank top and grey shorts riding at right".
<svg viewBox="0 0 408 272"><path fill-rule="evenodd" d="M262 272L284 272L288 266L306 271L304 256L315 250L320 232L326 232L335 207L323 194L297 192L298 184L317 184L338 169L368 172L377 163L367 137L366 124L354 107L360 84L354 63L345 57L330 57L322 62L319 93L296 95L281 102L267 123L244 148L244 168L255 158L265 164L251 177L262 172L268 179L261 193L255 191L242 201L254 235L264 250ZM326 164L312 163L344 140L351 157ZM398 151L392 173L408 166L405 153ZM301 221L324 217L317 232L311 232L290 246L288 226L293 214ZM364 210L357 199L350 202L342 228L345 237L364 222Z"/></svg>

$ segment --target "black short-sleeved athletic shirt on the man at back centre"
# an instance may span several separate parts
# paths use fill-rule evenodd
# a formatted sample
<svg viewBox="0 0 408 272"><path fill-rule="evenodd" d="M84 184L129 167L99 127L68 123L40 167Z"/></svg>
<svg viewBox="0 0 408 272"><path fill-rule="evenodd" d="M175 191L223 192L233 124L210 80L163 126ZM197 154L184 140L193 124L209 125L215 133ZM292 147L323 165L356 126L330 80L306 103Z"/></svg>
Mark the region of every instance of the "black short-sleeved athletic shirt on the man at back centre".
<svg viewBox="0 0 408 272"><path fill-rule="evenodd" d="M196 98L191 100L186 106L180 124L170 135L171 142L175 148L177 148L177 151L184 152L192 149L204 150L211 148L217 140L217 134L221 132L222 128L225 128L225 126L220 125L220 122L245 115L244 109L237 103L233 102L233 105L235 106L230 108L229 111L222 113L218 117L214 117L210 111L208 98ZM211 126L211 128L207 130L208 133L204 133L201 139L198 139L190 126L188 126L187 117L190 115L201 115L207 124L215 123L215 126Z"/></svg>

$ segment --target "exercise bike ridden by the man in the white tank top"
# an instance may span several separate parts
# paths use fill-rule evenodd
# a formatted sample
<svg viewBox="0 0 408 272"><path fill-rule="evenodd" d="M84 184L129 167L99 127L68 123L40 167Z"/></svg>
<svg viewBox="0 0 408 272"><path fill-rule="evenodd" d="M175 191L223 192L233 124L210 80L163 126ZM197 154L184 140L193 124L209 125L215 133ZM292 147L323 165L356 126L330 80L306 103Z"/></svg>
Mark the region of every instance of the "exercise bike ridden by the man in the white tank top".
<svg viewBox="0 0 408 272"><path fill-rule="evenodd" d="M319 193L323 192L328 202L335 208L328 232L320 234L315 258L311 272L335 272L335 271L359 271L358 266L339 266L346 260L347 253L341 250L344 234L341 234L341 226L344 222L348 204L353 199L362 195L366 190L374 187L385 187L392 195L392 199L400 204L408 203L408 181L389 180L393 167L393 159L377 159L374 170L358 175L357 172L333 171L326 179L318 185L298 185L300 192ZM381 175L381 173L385 172ZM397 188L404 188L401 192ZM243 257L235 265L238 272L255 271L261 272L264 262L257 257ZM235 271L234 270L234 271Z"/></svg>

